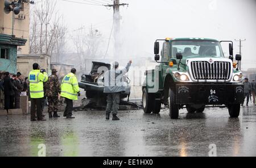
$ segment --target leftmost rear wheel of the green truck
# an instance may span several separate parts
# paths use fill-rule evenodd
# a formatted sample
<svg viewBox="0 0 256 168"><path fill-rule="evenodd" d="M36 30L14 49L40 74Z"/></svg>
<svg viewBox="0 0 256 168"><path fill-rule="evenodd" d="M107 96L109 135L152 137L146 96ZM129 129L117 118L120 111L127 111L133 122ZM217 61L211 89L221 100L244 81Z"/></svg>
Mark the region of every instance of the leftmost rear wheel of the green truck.
<svg viewBox="0 0 256 168"><path fill-rule="evenodd" d="M152 95L147 93L147 89L144 88L142 92L142 105L143 105L143 111L146 114L150 114L152 112L154 99L152 98Z"/></svg>

